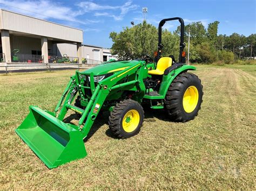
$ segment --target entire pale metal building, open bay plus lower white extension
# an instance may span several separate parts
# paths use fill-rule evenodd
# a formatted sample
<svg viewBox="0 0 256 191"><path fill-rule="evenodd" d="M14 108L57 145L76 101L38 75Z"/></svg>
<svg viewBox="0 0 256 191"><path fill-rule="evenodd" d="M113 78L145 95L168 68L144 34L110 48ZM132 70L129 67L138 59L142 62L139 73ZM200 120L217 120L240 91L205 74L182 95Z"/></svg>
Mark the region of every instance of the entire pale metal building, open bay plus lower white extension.
<svg viewBox="0 0 256 191"><path fill-rule="evenodd" d="M110 49L82 45L82 30L2 9L0 31L2 62L48 63L51 56L64 54L76 58L79 63L82 63L82 58L101 62L117 58L111 55ZM18 55L16 60L15 55Z"/></svg>

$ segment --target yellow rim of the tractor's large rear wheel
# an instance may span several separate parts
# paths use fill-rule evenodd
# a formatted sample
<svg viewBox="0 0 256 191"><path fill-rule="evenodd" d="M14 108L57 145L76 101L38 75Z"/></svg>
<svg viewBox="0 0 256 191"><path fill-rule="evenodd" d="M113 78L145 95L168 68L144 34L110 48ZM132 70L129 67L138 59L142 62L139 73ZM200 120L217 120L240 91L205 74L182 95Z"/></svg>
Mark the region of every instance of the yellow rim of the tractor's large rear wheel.
<svg viewBox="0 0 256 191"><path fill-rule="evenodd" d="M183 96L183 108L187 113L191 113L196 109L198 103L198 90L194 86L190 86L186 89Z"/></svg>

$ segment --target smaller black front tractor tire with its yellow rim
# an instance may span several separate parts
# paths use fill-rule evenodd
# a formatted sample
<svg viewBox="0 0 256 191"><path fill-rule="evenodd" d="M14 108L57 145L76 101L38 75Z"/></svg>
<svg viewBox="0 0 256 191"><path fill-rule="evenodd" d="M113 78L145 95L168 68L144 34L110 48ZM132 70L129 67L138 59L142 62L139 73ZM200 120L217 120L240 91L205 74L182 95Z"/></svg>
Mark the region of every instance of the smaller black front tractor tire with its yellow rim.
<svg viewBox="0 0 256 191"><path fill-rule="evenodd" d="M144 119L142 105L134 100L124 100L116 104L109 116L110 130L118 138L129 138L140 131Z"/></svg>

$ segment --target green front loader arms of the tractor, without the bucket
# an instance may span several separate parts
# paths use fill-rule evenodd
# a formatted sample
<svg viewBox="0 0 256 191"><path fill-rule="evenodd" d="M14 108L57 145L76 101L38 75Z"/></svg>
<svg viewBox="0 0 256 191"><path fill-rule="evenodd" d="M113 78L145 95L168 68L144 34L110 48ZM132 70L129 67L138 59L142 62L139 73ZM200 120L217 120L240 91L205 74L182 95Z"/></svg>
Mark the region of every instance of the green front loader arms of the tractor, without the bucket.
<svg viewBox="0 0 256 191"><path fill-rule="evenodd" d="M82 133L83 138L85 138L88 135L91 129L91 126L95 121L100 109L102 108L102 105L106 100L106 97L109 95L111 91L118 90L133 84L133 87L138 87L136 91L140 90L140 91L143 91L145 94L145 86L143 83L143 79L139 79L139 77L143 75L139 75L139 74L135 75L135 78L133 80L127 81L125 83L117 84L118 81L122 81L124 77L134 74L136 73L136 71L137 73L140 73L140 72L145 73L144 70L146 68L143 68L144 69L143 71L138 69L144 65L145 65L145 62L143 61L138 62L132 65L131 67L128 67L120 72L117 72L116 74L110 77L107 77L105 80L100 81L96 87L95 87L95 82L93 80L93 73L90 73L90 87L87 87L80 84L81 82L80 75L83 75L83 74L77 71L76 75L71 77L71 80L68 86L65 88L64 94L62 95L62 97L60 98L56 106L55 112L57 112L58 108L60 108L60 104L62 104L63 97L65 96L65 101L59 112L58 119L60 121L63 121L69 109L77 112L78 114L81 114L82 116L79 119L78 126L74 128L78 129ZM138 84L138 86L134 86L134 84ZM79 93L80 96L84 97L85 89L91 89L92 96L86 108L83 110L78 107L75 107L71 103L75 99L76 93ZM69 93L65 95L66 91L69 91Z"/></svg>

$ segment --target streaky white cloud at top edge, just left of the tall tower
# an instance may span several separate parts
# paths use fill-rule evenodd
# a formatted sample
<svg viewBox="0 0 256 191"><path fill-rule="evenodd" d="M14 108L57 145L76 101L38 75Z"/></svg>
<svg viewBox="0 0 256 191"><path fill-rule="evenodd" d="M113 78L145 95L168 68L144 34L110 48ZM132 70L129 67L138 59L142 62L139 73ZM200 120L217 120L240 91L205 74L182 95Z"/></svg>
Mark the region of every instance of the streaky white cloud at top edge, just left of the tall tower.
<svg viewBox="0 0 256 191"><path fill-rule="evenodd" d="M94 16L107 16L107 17L112 17L115 20L123 20L124 16L132 11L136 10L139 5L132 4L132 1L127 1L123 5L118 5L118 6L110 6L110 5L100 5L97 3L93 2L80 2L77 4L80 9L82 9L84 12L93 12L93 11L101 11L104 10L104 12L95 12ZM106 10L110 10L111 12L106 12ZM113 11L120 11L119 15L115 15L112 12Z"/></svg>

